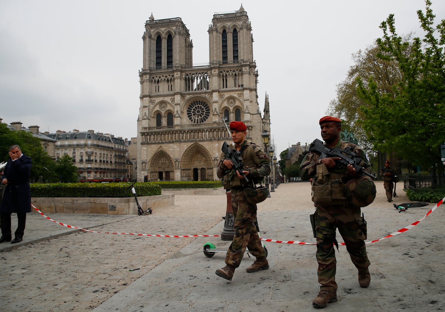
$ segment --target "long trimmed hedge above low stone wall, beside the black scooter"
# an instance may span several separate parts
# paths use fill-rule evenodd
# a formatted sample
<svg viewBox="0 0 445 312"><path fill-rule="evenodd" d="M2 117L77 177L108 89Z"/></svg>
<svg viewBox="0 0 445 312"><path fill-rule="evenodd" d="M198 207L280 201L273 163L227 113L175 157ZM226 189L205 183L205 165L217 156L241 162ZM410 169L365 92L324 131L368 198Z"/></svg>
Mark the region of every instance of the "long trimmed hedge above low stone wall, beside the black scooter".
<svg viewBox="0 0 445 312"><path fill-rule="evenodd" d="M133 197L130 183L32 183L31 197ZM161 195L155 183L135 183L137 196Z"/></svg>

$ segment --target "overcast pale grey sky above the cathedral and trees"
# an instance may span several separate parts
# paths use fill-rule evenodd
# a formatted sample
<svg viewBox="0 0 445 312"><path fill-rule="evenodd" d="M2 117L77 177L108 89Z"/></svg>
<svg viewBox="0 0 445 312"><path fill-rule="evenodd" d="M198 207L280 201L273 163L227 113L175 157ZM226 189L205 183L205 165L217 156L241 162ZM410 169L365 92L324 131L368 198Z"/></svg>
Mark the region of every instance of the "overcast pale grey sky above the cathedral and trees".
<svg viewBox="0 0 445 312"><path fill-rule="evenodd" d="M336 97L351 54L382 36L395 14L399 34L422 36L424 0L243 0L259 71L259 106L270 101L278 154L320 138L318 120ZM228 1L0 0L0 118L57 130L137 136L142 34L155 19L181 17L194 64L209 61L207 29ZM436 24L445 1L433 0Z"/></svg>

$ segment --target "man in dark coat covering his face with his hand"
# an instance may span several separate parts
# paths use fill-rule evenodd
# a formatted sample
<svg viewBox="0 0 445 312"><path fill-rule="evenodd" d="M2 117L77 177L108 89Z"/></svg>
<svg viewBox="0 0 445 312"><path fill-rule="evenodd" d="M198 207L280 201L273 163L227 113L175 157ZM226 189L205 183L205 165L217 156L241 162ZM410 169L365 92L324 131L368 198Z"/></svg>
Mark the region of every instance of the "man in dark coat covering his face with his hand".
<svg viewBox="0 0 445 312"><path fill-rule="evenodd" d="M31 174L31 157L22 154L18 145L9 147L8 163L4 168L4 175L1 180L4 191L0 206L1 237L0 243L9 242L11 235L11 213L17 214L18 226L15 238L11 243L21 242L25 230L26 213L31 212L31 188L29 186L29 176Z"/></svg>

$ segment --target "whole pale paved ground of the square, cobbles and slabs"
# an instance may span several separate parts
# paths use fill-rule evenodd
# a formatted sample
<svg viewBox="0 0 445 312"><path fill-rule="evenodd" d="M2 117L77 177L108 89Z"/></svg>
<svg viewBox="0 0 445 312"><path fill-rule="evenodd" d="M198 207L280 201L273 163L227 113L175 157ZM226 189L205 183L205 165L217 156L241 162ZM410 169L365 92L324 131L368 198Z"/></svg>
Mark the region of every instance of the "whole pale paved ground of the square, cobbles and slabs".
<svg viewBox="0 0 445 312"><path fill-rule="evenodd" d="M362 209L368 240L391 234L432 208L397 213L392 204L381 200L383 185L377 188L380 201ZM408 201L402 190L398 194L397 203ZM259 205L262 237L314 243L308 222L313 211L309 183L281 184L271 196ZM358 286L356 269L340 246L336 252L339 301L329 304L326 311L443 309L443 211L442 205L409 231L367 245L372 262L369 288ZM175 195L175 206L146 216L48 215L93 231L217 235L223 229L225 212L225 196ZM207 241L227 248L229 242L219 237L73 232L37 213L28 214L27 221L21 246L0 244L2 311L314 310L311 301L319 285L313 245L267 243L269 270L247 273L252 259L245 256L233 280L227 282L214 274L224 266L224 253L207 258L202 252ZM135 268L140 269L129 271Z"/></svg>

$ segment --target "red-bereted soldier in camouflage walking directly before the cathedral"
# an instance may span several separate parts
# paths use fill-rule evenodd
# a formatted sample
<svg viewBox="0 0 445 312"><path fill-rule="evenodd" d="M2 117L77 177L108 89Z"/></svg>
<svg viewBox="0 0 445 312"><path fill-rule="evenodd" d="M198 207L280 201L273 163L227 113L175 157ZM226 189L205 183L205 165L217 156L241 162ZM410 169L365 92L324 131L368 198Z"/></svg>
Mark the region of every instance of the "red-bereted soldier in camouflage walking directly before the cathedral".
<svg viewBox="0 0 445 312"><path fill-rule="evenodd" d="M243 173L251 181L261 181L263 177L269 175L271 168L269 163L271 159L257 145L246 140L247 126L243 122L231 122L230 133L233 145L231 149L241 152L241 158L244 162ZM234 231L235 235L226 254L226 266L216 270L216 275L226 280L232 280L235 268L239 267L243 259L246 248L255 256L255 262L247 267L246 271L256 272L269 268L266 259L266 252L261 244L258 231L254 225L256 219L256 204L246 201L243 190L251 187L247 184L243 176L233 168L230 159L224 157L220 160L217 169L218 178L223 178L224 188L231 190L232 193L232 209L235 217Z"/></svg>

